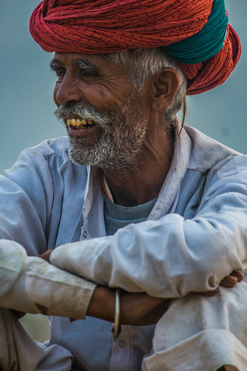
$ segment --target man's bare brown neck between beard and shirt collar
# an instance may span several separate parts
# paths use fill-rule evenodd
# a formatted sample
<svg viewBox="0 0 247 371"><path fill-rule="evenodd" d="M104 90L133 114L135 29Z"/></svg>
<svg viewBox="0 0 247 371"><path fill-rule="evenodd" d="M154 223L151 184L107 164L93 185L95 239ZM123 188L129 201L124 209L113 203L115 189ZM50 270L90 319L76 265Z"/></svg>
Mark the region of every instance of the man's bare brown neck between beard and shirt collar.
<svg viewBox="0 0 247 371"><path fill-rule="evenodd" d="M158 131L157 135L147 133L137 167L121 177L106 175L114 202L137 206L158 197L171 166L173 149L173 128Z"/></svg>

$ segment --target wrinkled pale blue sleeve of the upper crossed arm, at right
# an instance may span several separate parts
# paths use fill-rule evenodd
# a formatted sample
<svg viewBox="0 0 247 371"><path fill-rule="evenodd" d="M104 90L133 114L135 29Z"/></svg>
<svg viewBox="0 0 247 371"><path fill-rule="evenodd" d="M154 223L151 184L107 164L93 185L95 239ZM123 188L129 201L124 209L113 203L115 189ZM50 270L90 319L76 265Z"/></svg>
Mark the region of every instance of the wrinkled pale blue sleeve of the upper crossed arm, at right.
<svg viewBox="0 0 247 371"><path fill-rule="evenodd" d="M215 289L247 266L245 162L237 156L227 169L211 170L193 219L167 214L129 224L114 236L60 246L50 262L101 285L163 298Z"/></svg>

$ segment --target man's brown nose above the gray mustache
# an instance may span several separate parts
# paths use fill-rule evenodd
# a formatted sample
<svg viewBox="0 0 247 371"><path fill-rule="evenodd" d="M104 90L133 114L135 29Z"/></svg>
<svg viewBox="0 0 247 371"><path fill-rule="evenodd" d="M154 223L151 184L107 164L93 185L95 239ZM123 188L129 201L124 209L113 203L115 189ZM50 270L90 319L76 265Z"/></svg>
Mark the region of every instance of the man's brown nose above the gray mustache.
<svg viewBox="0 0 247 371"><path fill-rule="evenodd" d="M63 80L58 82L54 88L54 101L57 105L69 106L81 101L81 92L77 79L65 74Z"/></svg>

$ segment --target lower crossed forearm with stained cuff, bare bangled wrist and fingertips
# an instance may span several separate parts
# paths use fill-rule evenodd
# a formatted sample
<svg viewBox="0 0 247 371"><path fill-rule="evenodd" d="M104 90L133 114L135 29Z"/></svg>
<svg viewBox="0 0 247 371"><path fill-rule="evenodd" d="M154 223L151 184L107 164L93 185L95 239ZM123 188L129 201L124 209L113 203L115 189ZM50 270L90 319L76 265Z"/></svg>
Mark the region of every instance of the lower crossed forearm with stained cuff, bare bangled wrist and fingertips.
<svg viewBox="0 0 247 371"><path fill-rule="evenodd" d="M48 260L52 250L42 254ZM96 286L78 276L49 264L39 257L29 257L25 249L10 240L0 240L0 305L14 310L17 318L29 313L83 319L86 315L114 321L115 290ZM229 276L224 285L233 287L241 280ZM121 323L153 324L166 311L169 300L146 293L121 293Z"/></svg>

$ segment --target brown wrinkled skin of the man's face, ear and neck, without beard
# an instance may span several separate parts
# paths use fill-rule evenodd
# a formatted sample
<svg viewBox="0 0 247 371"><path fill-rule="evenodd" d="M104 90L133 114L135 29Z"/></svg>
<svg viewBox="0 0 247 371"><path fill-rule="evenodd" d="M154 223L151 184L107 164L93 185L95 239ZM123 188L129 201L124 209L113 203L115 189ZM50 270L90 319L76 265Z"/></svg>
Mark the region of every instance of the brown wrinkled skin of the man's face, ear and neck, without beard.
<svg viewBox="0 0 247 371"><path fill-rule="evenodd" d="M84 70L78 61L95 67ZM55 53L54 61L58 80L54 89L57 106L71 104L93 105L101 114L111 114L133 91L130 78L123 67L110 62L102 55L82 53ZM164 123L164 111L173 101L179 78L172 68L147 78L131 105L141 109L146 135L138 159L138 167L124 177L107 174L114 199L123 206L144 204L156 198L164 183L173 156L173 129ZM132 123L135 125L135 122ZM69 128L69 135L81 136L86 145L93 144L100 136L100 128L76 131Z"/></svg>

